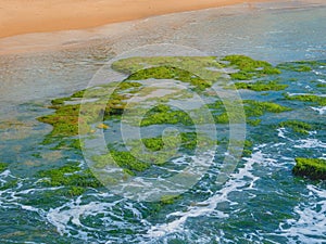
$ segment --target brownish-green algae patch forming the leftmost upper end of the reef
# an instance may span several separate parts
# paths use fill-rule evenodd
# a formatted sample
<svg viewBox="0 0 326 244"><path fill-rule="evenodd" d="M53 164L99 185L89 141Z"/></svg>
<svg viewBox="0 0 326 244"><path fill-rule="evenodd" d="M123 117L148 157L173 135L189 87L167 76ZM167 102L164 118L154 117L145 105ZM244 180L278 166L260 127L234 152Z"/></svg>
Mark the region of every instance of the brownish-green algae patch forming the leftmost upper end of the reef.
<svg viewBox="0 0 326 244"><path fill-rule="evenodd" d="M137 89L141 85L138 82L121 82L110 97L108 97L108 89L110 89L110 86L90 89L89 93L87 91L87 95L99 98L100 100L84 104L83 116L79 116L80 104L65 104L64 102L71 101L72 98L78 98L82 94L85 94L86 90L76 92L68 98L52 100L52 106L49 106L49 108L53 108L55 112L50 115L38 117L37 119L53 127L49 137L71 137L77 136L78 133L87 133L91 130L90 124L96 121L99 117L104 116L105 119L114 115L121 115L126 105L123 101L127 98L127 94L122 94L121 92L133 92L130 89Z"/></svg>

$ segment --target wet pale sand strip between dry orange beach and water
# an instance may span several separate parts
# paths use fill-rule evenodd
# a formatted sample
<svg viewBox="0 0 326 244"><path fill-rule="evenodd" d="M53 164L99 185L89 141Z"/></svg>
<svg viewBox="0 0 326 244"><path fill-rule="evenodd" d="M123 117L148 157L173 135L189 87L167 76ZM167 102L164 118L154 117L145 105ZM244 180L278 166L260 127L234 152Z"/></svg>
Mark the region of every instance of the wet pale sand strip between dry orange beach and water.
<svg viewBox="0 0 326 244"><path fill-rule="evenodd" d="M3 1L7 3L11 2L11 0L3 0ZM12 2L20 2L20 1L23 0L12 0ZM33 1L39 2L40 0L33 0ZM142 2L145 3L151 0L143 0ZM159 0L152 0L152 1L159 1ZM80 0L70 0L68 2L76 3L76 2L80 2ZM88 0L84 0L84 2L88 2ZM191 0L189 2L193 3L195 0ZM213 7L206 5L208 8L204 8L203 3L208 3L208 2L214 2L214 5ZM185 1L183 0L181 3L185 3ZM51 50L64 50L72 47L77 48L79 46L84 46L85 43L91 43L91 42L97 43L102 41L106 41L106 42L111 42L112 44L115 44L118 43L120 37L125 36L126 33L131 31L133 29L135 35L141 35L141 31L138 33L138 30L139 28L141 29L142 26L145 26L145 23L147 22L152 23L153 20L162 18L163 22L165 23L166 20L170 20L166 23L168 23L167 25L168 26L171 25L171 28L173 29L174 26L179 25L178 17L175 16L184 16L184 15L187 16L198 12L208 11L208 14L210 15L212 13L220 12L220 10L223 11L225 10L228 14L238 15L238 14L244 14L250 12L260 12L261 10L273 10L275 9L275 7L277 9L280 8L286 10L286 9L297 9L302 7L306 8L306 7L324 5L323 0L300 0L296 2L287 1L287 0L252 0L249 2L246 2L243 0L217 0L217 1L204 0L203 3L197 5L197 8L193 10L189 10L189 8L192 8L191 4L187 5L185 3L186 5L183 7L188 9L183 9L179 11L175 9L175 11L172 12L166 12L166 13L163 12L161 14L154 14L150 16L145 15L135 20L133 18L129 21L114 22L109 24L106 23L100 26L89 27L89 28L80 28L80 29L63 28L59 30L47 29L47 31L34 31L34 33L20 34L20 35L9 36L9 37L0 37L0 55L11 55L11 54L20 54L20 53L22 54L22 53L32 53L32 52L51 51ZM117 5L115 5L115 8L116 7ZM0 9L0 13L3 13L4 11L3 9L4 8ZM85 17L87 16L84 16L84 18ZM4 18L4 15L0 14L0 21L1 18ZM24 17L21 16L21 18ZM199 21L196 18L196 16L193 20ZM164 28L164 26L162 26L160 22L156 23L158 26ZM3 24L2 25L0 24L0 29L3 28L3 26L4 26ZM0 31L0 36L1 34L2 33Z"/></svg>

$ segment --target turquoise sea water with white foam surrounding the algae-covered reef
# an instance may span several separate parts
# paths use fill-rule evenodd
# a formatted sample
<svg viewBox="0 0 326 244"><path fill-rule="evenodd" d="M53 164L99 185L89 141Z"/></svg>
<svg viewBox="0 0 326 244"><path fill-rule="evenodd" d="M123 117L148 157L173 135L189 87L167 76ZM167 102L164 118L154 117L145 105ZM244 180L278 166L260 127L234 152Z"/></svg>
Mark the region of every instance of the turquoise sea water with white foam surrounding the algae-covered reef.
<svg viewBox="0 0 326 244"><path fill-rule="evenodd" d="M211 16L206 22L211 29L205 33L206 38L187 40L186 34L190 39L190 30L197 34L202 29L200 26L175 35L184 44L201 42L204 51L215 55L236 52L274 64L299 60L325 63L325 8L273 10L265 14L264 23L260 17L259 12ZM230 18L233 24L228 22ZM244 21L251 23L252 30L237 31ZM217 44L216 23L229 25L221 38L223 46ZM39 184L36 177L39 170L67 162L87 166L77 151L53 151L52 145L43 145L41 142L51 127L35 118L53 113L45 106L50 99L83 89L113 55L110 49L102 51L99 46L1 60L3 84L18 79L36 85L26 85L29 88L26 91L4 85L7 91L1 92L0 160L10 164L0 174L1 243L326 242L325 182L291 174L296 157L326 157L325 107L287 101L283 95L284 92L325 95L325 87L317 86L326 84L323 65L305 73L284 70L280 80L289 86L285 91L240 91L243 100L273 101L293 111L266 114L260 126L247 127L247 139L254 142L252 154L240 160L222 187L214 183L217 171L212 167L183 197L161 206L123 198L106 189L88 189L80 196L66 197L53 194L58 188ZM53 88L45 89L49 86ZM287 119L301 119L318 129L298 134L275 126ZM110 133L106 136L110 138Z"/></svg>

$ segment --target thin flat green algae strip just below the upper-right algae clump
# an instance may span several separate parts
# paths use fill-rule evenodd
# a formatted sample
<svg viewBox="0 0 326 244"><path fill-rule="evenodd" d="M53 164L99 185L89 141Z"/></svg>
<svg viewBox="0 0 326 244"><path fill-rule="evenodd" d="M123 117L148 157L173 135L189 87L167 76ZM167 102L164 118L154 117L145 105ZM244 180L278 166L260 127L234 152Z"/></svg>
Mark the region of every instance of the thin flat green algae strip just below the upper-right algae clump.
<svg viewBox="0 0 326 244"><path fill-rule="evenodd" d="M288 85L279 84L278 80L259 80L255 82L236 82L237 89L247 89L252 91L280 91L285 90Z"/></svg>

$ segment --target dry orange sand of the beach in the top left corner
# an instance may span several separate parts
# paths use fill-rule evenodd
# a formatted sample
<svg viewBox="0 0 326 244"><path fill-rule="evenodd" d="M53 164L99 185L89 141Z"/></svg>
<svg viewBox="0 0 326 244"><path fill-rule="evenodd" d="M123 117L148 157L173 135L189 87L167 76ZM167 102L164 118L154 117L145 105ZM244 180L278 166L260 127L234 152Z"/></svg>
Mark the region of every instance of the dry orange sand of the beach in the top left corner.
<svg viewBox="0 0 326 244"><path fill-rule="evenodd" d="M266 0L0 0L0 38Z"/></svg>

